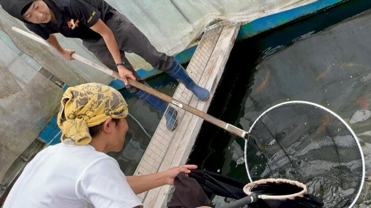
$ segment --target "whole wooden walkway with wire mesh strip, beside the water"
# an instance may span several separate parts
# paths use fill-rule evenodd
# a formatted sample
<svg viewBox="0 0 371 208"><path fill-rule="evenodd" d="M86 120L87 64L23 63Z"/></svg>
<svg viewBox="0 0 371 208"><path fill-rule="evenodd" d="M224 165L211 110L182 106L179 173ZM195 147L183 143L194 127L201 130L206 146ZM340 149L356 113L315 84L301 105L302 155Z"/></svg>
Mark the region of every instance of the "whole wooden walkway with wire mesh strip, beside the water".
<svg viewBox="0 0 371 208"><path fill-rule="evenodd" d="M209 27L188 65L187 72L196 83L210 91L210 98L205 102L200 101L183 84L179 84L173 95L175 99L207 112L238 30L239 25L217 24ZM167 130L166 120L162 118L135 175L164 171L187 162L203 119L177 107L174 108L178 111L178 127L174 131ZM141 193L138 197L144 207L166 207L170 188L171 186L159 187Z"/></svg>

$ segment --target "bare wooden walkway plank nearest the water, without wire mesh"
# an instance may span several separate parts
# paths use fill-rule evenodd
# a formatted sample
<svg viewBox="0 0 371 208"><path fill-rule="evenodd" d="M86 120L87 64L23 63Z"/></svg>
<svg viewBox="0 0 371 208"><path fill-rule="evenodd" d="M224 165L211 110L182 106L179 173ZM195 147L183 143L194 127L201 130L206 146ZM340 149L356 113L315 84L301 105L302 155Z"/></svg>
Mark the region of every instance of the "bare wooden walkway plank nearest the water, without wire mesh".
<svg viewBox="0 0 371 208"><path fill-rule="evenodd" d="M218 86L219 80L223 74L224 67L228 60L230 51L237 37L239 25L224 26L217 45L213 48L211 57L207 63L202 77L199 81L200 86L206 86L211 89L213 95ZM201 69L202 70L202 69ZM211 99L206 102L199 101L195 96L191 98L190 105L204 112L207 111ZM173 136L168 151L163 158L163 161L158 171L167 170L173 166L184 164L193 148L198 132L201 128L203 119L185 112L179 123L178 129ZM148 191L143 204L145 207L166 207L167 197L171 186L163 186L154 190Z"/></svg>

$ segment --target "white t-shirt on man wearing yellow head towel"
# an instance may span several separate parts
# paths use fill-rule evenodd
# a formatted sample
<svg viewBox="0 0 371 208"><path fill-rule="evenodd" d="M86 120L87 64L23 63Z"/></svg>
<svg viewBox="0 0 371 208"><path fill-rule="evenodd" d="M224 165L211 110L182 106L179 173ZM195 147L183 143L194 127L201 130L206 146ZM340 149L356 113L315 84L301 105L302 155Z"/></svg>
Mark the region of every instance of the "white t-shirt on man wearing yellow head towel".
<svg viewBox="0 0 371 208"><path fill-rule="evenodd" d="M60 143L24 168L3 208L135 207L142 205L112 157L90 145Z"/></svg>

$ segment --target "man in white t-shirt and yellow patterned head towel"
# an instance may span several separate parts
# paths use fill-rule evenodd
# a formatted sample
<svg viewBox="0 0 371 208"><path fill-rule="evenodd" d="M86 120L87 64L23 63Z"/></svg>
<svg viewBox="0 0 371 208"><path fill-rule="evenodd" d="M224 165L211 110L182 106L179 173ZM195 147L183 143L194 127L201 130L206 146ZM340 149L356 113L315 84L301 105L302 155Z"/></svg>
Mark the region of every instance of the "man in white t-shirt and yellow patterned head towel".
<svg viewBox="0 0 371 208"><path fill-rule="evenodd" d="M182 165L144 176L125 176L107 152L120 151L128 130L128 108L112 87L88 83L70 87L57 123L61 143L39 152L24 168L4 208L141 207L136 194L173 185Z"/></svg>

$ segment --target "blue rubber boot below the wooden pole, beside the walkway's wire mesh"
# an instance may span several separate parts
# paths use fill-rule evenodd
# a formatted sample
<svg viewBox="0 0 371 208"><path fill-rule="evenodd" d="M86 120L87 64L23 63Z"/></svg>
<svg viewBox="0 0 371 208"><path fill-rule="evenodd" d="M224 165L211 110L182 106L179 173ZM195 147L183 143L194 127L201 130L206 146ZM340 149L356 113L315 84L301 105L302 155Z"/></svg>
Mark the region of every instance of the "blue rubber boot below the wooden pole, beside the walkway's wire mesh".
<svg viewBox="0 0 371 208"><path fill-rule="evenodd" d="M135 95L137 95L139 98L146 101L150 106L156 108L163 115L165 115L167 129L169 129L170 131L173 131L177 127L178 121L176 118L177 118L178 112L171 106L169 106L169 109L168 109L167 102L143 90L139 90L138 92L135 93Z"/></svg>

